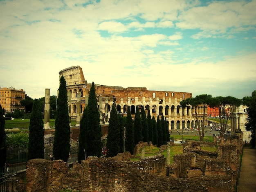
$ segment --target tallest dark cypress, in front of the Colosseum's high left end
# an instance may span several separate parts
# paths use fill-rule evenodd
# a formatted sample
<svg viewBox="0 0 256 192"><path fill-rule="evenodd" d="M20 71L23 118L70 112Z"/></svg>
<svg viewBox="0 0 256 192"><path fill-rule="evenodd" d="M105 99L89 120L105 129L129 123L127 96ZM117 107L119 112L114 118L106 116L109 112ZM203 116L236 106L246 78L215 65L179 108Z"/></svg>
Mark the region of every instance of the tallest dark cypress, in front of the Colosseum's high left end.
<svg viewBox="0 0 256 192"><path fill-rule="evenodd" d="M60 78L58 91L53 154L55 159L62 159L67 162L70 154L70 122L67 107L66 80L63 76Z"/></svg>

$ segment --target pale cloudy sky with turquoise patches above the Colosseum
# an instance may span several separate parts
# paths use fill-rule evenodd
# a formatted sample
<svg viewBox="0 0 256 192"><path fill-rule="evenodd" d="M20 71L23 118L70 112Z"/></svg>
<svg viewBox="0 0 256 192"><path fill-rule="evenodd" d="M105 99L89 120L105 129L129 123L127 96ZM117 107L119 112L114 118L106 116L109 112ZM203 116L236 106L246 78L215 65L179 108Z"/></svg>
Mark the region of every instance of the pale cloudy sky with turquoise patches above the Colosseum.
<svg viewBox="0 0 256 192"><path fill-rule="evenodd" d="M88 83L193 96L256 89L256 0L0 0L0 87Z"/></svg>

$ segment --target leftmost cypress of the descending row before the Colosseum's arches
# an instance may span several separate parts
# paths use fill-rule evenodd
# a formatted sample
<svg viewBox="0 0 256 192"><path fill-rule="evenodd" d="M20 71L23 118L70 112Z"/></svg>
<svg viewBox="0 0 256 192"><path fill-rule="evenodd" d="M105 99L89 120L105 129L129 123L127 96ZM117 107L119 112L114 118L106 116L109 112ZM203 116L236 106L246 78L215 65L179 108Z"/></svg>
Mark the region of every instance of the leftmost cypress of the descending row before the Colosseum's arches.
<svg viewBox="0 0 256 192"><path fill-rule="evenodd" d="M108 122L107 156L113 157L121 152L120 150L120 123L115 103L112 105L110 119Z"/></svg>

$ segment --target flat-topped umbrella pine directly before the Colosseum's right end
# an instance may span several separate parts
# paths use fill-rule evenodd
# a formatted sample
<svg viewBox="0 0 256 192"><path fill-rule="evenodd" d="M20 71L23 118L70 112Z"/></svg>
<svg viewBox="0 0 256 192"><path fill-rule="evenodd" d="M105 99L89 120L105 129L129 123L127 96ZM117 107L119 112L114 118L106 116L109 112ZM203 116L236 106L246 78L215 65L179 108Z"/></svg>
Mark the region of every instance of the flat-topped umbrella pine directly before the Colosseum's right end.
<svg viewBox="0 0 256 192"><path fill-rule="evenodd" d="M185 100L182 100L180 102L180 105L182 106L182 110L184 110L187 107L187 105L191 105L192 109L195 110L195 118L196 118L196 123L198 127L200 141L204 141L204 124L207 118L207 107L211 103L211 100L212 100L211 95L202 94L202 95L197 95L194 98L186 98ZM202 126L200 126L200 120L198 120L198 107L203 108Z"/></svg>

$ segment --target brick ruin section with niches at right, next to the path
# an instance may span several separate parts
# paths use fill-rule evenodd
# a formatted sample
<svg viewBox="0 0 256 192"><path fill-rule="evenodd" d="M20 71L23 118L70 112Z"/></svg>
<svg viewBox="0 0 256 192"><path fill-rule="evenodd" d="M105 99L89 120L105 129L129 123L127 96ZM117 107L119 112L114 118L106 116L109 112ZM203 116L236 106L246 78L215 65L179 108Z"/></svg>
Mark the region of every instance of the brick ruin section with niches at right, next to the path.
<svg viewBox="0 0 256 192"><path fill-rule="evenodd" d="M217 152L201 150L201 146L207 146L205 142L186 143L184 153L175 155L174 163L167 166L167 175L195 179L210 192L235 191L243 152L240 134L242 133L236 133L236 136L231 136L224 144L219 144Z"/></svg>

